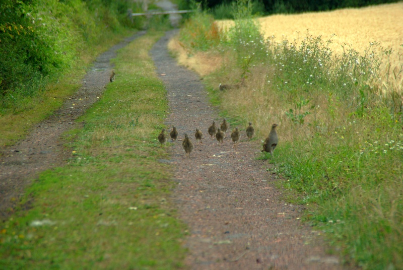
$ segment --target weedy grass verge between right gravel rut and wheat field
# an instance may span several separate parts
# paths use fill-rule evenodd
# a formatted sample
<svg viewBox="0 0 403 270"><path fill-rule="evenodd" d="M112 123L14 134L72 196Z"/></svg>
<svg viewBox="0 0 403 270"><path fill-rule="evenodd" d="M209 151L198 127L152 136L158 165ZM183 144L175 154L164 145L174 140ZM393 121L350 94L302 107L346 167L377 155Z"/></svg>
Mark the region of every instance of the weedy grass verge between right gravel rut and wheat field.
<svg viewBox="0 0 403 270"><path fill-rule="evenodd" d="M306 221L327 232L348 261L403 268L403 61L390 63L391 51L376 42L362 55L347 46L334 55L331 39L309 33L293 43L264 40L250 10L239 1L235 26L218 36L207 14L180 32L188 51L222 58L205 78L213 99L245 126L252 121L260 138L280 124L275 157L261 158L284 177L287 199L309 205ZM210 38L217 41L200 47ZM219 83L233 88L219 91Z"/></svg>

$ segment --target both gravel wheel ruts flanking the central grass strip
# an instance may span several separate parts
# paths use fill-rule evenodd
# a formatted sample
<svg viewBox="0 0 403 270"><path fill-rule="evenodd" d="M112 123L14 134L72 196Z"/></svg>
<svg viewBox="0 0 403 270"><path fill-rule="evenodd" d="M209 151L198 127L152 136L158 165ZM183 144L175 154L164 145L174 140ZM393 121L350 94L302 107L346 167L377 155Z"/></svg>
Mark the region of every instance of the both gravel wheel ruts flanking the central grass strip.
<svg viewBox="0 0 403 270"><path fill-rule="evenodd" d="M35 126L24 141L1 149L0 220L13 213L30 179L70 157L60 134L75 127L74 120L102 94L111 71L109 59L115 57L116 49L142 34L102 54L83 87L62 108ZM222 146L209 138L208 126L221 119L209 105L199 78L169 56L166 43L174 34L168 32L151 53L168 90L171 113L167 125L177 126L180 138L187 132L195 146L189 159L179 141L171 148L171 160L164 161L176 166L178 185L171 199L189 226L186 264L191 269L341 269L337 257L325 254L317 233L297 220L301 207L281 200L281 191L273 184L276 175L266 171L267 162L255 160L259 142L246 142L243 134L234 151L229 132ZM195 143L196 127L204 132L203 145ZM281 147L281 127L278 132Z"/></svg>

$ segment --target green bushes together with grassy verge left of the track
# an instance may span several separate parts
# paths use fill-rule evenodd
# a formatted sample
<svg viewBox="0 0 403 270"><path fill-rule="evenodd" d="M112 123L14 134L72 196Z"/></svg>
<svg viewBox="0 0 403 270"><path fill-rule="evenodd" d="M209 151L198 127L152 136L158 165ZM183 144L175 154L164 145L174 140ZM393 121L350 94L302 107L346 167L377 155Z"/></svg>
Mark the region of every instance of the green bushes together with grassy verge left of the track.
<svg viewBox="0 0 403 270"><path fill-rule="evenodd" d="M0 145L12 145L71 95L95 57L143 27L127 1L0 4Z"/></svg>

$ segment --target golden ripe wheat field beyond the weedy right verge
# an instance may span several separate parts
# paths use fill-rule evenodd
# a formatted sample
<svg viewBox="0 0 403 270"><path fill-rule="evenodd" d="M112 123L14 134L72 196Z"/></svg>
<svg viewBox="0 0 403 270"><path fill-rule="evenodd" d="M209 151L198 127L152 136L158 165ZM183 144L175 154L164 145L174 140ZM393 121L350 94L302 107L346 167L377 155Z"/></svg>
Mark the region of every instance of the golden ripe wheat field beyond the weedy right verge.
<svg viewBox="0 0 403 270"><path fill-rule="evenodd" d="M304 38L307 30L324 41L331 38L330 48L335 53L343 52L347 44L359 52L364 52L370 42L379 42L384 49L393 49L393 60L403 44L403 2L371 6L359 9L343 9L329 12L304 13L296 15L273 15L257 20L265 38L274 36L280 42L287 38ZM233 21L217 22L228 29Z"/></svg>

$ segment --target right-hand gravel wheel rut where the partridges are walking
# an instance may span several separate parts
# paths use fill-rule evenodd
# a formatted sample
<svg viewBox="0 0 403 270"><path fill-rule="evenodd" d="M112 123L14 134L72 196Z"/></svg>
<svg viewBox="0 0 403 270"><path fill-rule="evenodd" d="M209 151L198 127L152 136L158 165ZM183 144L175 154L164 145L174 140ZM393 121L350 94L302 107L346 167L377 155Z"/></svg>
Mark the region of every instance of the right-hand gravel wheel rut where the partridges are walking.
<svg viewBox="0 0 403 270"><path fill-rule="evenodd" d="M301 206L287 205L274 187L276 175L267 161L256 160L261 143L246 141L245 128L234 150L227 131L223 145L207 132L213 120L222 122L209 105L208 93L195 73L178 66L167 51L168 32L151 53L168 91L170 114L180 140L171 148L178 182L173 193L180 217L189 225L186 264L191 269L340 269L339 258L297 219ZM271 125L272 123L267 123ZM235 126L232 126L234 128ZM195 128L204 133L196 145ZM187 158L181 140L187 133L194 149ZM281 126L278 128L281 147Z"/></svg>

